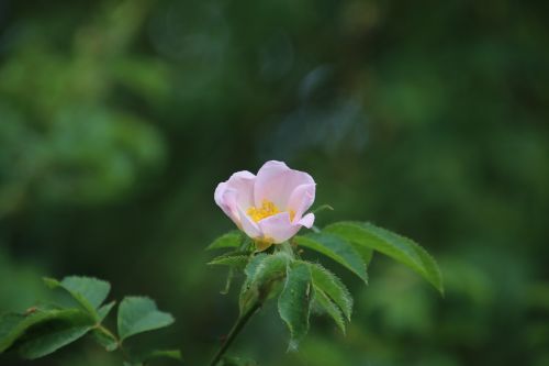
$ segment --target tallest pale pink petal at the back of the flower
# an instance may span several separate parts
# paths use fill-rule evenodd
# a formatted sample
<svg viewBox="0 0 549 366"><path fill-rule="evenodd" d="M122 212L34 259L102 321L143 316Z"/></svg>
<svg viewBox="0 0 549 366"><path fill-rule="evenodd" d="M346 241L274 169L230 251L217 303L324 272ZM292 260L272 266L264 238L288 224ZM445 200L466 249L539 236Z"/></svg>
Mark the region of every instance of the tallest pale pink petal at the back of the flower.
<svg viewBox="0 0 549 366"><path fill-rule="evenodd" d="M282 162L267 162L257 173L254 187L256 207L260 207L262 200L267 199L280 210L285 210L293 190L298 186L307 184L314 184L309 174L290 169Z"/></svg>

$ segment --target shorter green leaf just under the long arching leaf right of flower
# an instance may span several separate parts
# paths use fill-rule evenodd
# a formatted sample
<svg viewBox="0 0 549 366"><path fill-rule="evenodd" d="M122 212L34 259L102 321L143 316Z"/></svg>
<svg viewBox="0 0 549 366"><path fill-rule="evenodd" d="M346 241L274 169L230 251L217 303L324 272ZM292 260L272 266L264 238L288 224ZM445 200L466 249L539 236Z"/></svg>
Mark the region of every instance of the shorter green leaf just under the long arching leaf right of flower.
<svg viewBox="0 0 549 366"><path fill-rule="evenodd" d="M366 264L362 256L355 247L339 236L326 233L312 233L303 236L294 236L294 243L324 254L352 271L368 284Z"/></svg>

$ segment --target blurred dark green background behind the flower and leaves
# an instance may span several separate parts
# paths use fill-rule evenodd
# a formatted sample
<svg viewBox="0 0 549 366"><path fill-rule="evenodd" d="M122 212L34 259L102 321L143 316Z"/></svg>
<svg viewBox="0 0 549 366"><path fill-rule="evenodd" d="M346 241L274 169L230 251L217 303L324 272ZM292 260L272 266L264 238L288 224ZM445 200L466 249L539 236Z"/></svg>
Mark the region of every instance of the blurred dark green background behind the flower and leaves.
<svg viewBox="0 0 549 366"><path fill-rule="evenodd" d="M548 2L0 0L0 311L42 276L172 312L204 365L237 313L203 248L219 181L282 159L323 225L369 220L439 260L446 298L382 256L343 336L285 354L276 309L232 354L268 366L549 365ZM27 365L2 356L1 365ZM79 342L33 365L120 365ZM160 364L161 365L161 364Z"/></svg>

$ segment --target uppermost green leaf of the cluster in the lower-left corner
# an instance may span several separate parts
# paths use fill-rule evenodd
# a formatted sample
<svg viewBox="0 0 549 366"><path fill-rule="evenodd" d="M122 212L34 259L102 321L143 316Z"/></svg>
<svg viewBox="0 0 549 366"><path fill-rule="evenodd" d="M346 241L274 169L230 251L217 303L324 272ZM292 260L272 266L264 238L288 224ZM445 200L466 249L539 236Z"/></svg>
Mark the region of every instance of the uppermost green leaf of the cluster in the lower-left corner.
<svg viewBox="0 0 549 366"><path fill-rule="evenodd" d="M107 281L92 277L65 277L61 281L54 278L44 278L49 288L63 288L96 320L99 320L97 309L107 299L111 291L111 285Z"/></svg>

